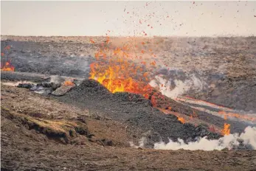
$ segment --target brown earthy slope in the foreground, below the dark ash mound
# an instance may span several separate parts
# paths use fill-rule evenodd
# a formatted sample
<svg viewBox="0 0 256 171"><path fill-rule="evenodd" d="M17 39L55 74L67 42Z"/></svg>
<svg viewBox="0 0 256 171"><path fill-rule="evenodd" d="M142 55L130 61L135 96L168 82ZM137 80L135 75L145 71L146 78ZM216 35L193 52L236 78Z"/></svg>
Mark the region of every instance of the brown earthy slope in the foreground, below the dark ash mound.
<svg viewBox="0 0 256 171"><path fill-rule="evenodd" d="M128 125L1 85L1 170L255 170L255 150L130 147L141 130Z"/></svg>

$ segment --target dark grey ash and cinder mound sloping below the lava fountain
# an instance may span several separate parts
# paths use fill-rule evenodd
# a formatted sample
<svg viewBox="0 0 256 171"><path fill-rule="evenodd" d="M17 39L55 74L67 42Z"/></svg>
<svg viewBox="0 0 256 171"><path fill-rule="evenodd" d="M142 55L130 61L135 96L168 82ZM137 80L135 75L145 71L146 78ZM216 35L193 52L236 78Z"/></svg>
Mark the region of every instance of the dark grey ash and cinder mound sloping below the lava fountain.
<svg viewBox="0 0 256 171"><path fill-rule="evenodd" d="M146 136L148 147L152 147L155 142L168 142L168 138L173 141L180 138L190 142L198 136L208 136L209 139L221 137L217 133L210 133L202 125L195 127L191 124L182 124L176 116L163 114L153 108L151 102L139 94L112 94L95 80L83 80L80 86L58 99L99 111L111 119L128 124L129 129L139 128L142 131L137 136Z"/></svg>

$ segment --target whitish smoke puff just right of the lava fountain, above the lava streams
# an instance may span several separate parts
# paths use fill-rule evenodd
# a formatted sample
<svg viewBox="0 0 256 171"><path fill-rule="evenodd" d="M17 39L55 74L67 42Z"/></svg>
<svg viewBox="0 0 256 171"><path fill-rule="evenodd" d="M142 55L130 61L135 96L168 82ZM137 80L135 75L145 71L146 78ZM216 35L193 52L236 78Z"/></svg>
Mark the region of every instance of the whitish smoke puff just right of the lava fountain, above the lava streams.
<svg viewBox="0 0 256 171"><path fill-rule="evenodd" d="M172 99L193 89L200 91L204 87L204 83L194 74L187 79L165 79L162 74L156 75L154 80L149 83L154 88L159 88L159 91Z"/></svg>

